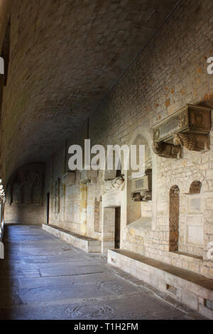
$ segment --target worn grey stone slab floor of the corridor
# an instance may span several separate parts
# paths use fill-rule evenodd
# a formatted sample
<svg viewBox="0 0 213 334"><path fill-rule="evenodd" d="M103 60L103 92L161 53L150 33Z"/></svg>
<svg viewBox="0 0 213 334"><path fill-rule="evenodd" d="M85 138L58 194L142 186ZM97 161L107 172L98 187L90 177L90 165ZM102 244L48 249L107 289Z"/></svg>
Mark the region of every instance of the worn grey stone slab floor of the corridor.
<svg viewBox="0 0 213 334"><path fill-rule="evenodd" d="M202 319L143 281L56 239L9 225L0 261L0 319Z"/></svg>

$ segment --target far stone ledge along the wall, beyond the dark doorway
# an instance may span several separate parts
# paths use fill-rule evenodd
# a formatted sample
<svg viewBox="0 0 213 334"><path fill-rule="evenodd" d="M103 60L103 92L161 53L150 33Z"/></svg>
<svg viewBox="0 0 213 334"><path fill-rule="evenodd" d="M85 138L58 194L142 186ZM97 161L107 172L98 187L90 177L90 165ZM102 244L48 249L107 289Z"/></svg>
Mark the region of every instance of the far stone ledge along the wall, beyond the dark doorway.
<svg viewBox="0 0 213 334"><path fill-rule="evenodd" d="M101 253L102 243L97 239L77 235L76 233L63 230L62 228L53 225L43 224L42 228L51 235L64 240L68 244L72 244L72 246L76 248L82 249L84 252Z"/></svg>

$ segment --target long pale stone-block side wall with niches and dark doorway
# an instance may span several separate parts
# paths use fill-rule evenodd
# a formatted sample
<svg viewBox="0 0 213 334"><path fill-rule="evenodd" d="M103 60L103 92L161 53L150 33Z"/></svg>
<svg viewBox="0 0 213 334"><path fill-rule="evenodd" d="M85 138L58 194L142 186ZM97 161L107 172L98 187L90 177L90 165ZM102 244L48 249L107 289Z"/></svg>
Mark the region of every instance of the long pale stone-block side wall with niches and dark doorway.
<svg viewBox="0 0 213 334"><path fill-rule="evenodd" d="M89 138L92 144L131 144L140 133L151 146L151 126L156 122L187 103L213 107L213 75L207 74L207 58L213 55L212 14L212 1L181 1L158 36L147 45L91 117ZM77 129L67 146L82 144L86 138L84 129ZM79 173L74 186L65 187L63 191L61 188L63 205L60 214L55 214L54 184L64 171L63 147L49 161L53 166L53 176L47 185L51 188L51 223L104 241L104 232L110 234L110 217L114 215L111 209L121 206L121 248L212 277L213 262L207 259L207 244L213 241L213 132L210 136L210 151L184 149L180 160L160 158L152 153L153 200L141 204L141 217L147 211L145 216L151 216L151 220L144 225L141 220L141 225L139 222L132 228L127 225L127 185L114 192L110 187L107 189L102 172L95 185L87 186L85 230L80 217ZM202 183L198 195L188 195L193 181ZM187 254L169 252L169 194L173 185L180 189L179 251ZM102 234L94 230L95 203L100 195L103 198ZM200 203L199 212L190 209L193 196L197 196ZM111 208L107 209L109 214L106 208ZM106 226L109 226L108 231ZM201 229L203 242L202 237L194 241L187 239L189 228Z"/></svg>

